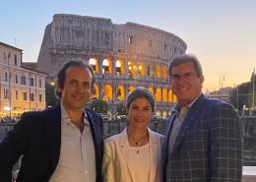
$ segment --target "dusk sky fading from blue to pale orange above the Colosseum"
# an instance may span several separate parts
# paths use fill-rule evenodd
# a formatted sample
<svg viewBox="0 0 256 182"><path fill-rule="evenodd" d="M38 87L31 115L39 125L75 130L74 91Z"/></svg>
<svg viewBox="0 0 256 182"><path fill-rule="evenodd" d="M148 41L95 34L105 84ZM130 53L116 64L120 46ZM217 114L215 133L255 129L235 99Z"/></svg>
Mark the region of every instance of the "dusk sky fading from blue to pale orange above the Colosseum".
<svg viewBox="0 0 256 182"><path fill-rule="evenodd" d="M256 67L255 0L1 0L0 41L37 60L46 25L54 14L133 22L178 35L187 53L202 62L204 91L248 82Z"/></svg>

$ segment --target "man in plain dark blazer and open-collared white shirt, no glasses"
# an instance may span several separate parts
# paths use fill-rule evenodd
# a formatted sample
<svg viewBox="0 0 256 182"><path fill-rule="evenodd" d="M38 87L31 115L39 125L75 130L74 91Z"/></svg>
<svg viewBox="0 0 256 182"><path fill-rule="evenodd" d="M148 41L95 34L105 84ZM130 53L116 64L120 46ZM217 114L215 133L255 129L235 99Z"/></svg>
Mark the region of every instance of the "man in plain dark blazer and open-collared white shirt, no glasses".
<svg viewBox="0 0 256 182"><path fill-rule="evenodd" d="M71 61L63 66L57 76L60 104L24 113L0 144L0 182L12 180L12 167L21 155L17 182L65 182L73 173L74 180L101 182L102 120L85 108L94 84L89 65ZM90 172L84 174L84 169Z"/></svg>

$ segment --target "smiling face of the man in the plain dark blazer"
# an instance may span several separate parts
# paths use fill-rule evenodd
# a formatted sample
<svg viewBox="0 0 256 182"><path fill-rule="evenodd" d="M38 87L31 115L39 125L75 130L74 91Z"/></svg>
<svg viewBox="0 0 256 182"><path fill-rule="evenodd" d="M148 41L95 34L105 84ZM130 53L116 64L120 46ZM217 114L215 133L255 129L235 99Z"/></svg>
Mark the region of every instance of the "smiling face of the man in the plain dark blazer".
<svg viewBox="0 0 256 182"><path fill-rule="evenodd" d="M83 110L92 93L92 74L85 67L70 67L62 88L61 101L66 110Z"/></svg>

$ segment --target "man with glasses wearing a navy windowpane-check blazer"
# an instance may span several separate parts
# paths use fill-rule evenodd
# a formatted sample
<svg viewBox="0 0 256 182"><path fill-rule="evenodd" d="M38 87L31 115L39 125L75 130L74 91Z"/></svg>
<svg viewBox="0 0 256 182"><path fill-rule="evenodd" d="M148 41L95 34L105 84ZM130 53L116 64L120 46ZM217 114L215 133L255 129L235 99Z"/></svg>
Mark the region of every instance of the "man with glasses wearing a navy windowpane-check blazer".
<svg viewBox="0 0 256 182"><path fill-rule="evenodd" d="M243 130L234 108L202 93L195 56L175 57L168 72L178 102L166 126L163 182L241 181Z"/></svg>

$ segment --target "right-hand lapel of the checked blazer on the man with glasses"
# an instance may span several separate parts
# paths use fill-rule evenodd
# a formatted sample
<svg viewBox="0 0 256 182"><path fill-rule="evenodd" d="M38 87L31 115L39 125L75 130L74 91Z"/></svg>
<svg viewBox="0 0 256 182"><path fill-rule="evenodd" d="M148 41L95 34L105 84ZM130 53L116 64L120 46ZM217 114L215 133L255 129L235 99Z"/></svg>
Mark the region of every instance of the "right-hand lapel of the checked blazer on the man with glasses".
<svg viewBox="0 0 256 182"><path fill-rule="evenodd" d="M202 108L202 106L204 105L203 104L204 100L205 100L205 95L202 94L201 96L199 96L199 98L196 100L196 102L189 109L186 119L182 123L182 125L180 127L180 131L179 131L176 141L174 143L173 152L177 149L177 147L181 143L186 131L189 129L191 124L193 124L193 122L195 122L198 114L200 114L200 108Z"/></svg>

